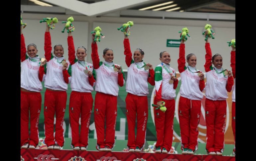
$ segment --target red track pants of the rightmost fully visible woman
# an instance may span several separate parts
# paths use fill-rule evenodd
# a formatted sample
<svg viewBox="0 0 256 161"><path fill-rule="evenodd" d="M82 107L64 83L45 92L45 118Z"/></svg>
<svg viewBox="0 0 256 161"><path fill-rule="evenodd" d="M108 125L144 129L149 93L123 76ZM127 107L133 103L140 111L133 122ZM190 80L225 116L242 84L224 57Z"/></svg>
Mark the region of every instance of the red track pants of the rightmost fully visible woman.
<svg viewBox="0 0 256 161"><path fill-rule="evenodd" d="M226 100L205 100L206 121L206 151L221 151L224 149L224 132L226 126Z"/></svg>

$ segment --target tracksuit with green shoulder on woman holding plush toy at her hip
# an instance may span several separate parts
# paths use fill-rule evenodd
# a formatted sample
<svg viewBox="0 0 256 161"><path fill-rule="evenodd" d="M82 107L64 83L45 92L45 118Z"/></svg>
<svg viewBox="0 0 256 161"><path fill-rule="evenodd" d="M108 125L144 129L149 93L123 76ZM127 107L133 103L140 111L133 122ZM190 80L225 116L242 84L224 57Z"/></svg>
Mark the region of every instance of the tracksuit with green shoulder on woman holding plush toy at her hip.
<svg viewBox="0 0 256 161"><path fill-rule="evenodd" d="M169 72L168 72L168 71ZM165 148L168 152L172 148L173 142L173 119L175 111L176 91L178 79L170 84L171 75L176 76L176 72L168 64L161 63L155 68L155 99L154 104L158 101L164 101L167 108L166 112L155 109L155 125L157 131L156 148Z"/></svg>

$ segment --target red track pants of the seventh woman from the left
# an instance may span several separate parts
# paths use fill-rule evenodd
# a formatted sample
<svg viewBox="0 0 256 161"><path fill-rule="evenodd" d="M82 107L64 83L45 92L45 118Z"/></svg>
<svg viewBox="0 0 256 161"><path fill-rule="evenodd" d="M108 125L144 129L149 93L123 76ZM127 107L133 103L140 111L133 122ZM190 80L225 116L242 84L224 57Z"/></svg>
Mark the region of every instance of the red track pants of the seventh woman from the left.
<svg viewBox="0 0 256 161"><path fill-rule="evenodd" d="M180 97L179 101L179 121L181 128L181 149L189 148L197 150L198 123L201 114L201 101L190 100Z"/></svg>

